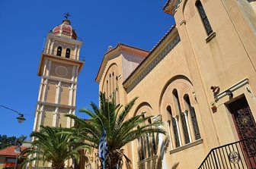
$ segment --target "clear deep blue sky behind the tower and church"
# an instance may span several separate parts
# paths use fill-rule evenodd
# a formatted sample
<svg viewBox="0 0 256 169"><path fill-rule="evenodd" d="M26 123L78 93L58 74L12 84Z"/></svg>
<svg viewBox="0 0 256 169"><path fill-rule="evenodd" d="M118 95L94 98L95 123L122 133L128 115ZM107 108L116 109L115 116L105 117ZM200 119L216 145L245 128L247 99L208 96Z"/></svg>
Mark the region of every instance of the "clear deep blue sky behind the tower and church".
<svg viewBox="0 0 256 169"><path fill-rule="evenodd" d="M64 13L72 14L72 27L84 42L78 110L89 108L90 102L98 103L98 83L94 79L109 45L122 42L151 50L174 24L173 17L162 11L166 1L0 0L0 105L20 111L27 118L18 124L14 112L0 107L0 134L29 136L33 130L43 41L49 30L62 23ZM76 114L82 116L78 111Z"/></svg>

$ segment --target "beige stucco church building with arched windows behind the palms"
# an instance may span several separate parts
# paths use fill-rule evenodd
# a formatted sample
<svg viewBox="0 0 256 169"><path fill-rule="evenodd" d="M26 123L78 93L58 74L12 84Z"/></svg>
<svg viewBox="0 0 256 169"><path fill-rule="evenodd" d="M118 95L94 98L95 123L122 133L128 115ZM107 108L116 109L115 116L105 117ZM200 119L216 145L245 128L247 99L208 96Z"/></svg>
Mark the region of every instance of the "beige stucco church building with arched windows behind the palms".
<svg viewBox="0 0 256 169"><path fill-rule="evenodd" d="M244 109L234 106L243 102L243 120L255 127L255 1L169 0L164 11L176 25L158 44L150 52L118 44L104 55L96 81L117 105L139 97L130 117L162 116L171 139L163 168L198 168L211 149L247 136L235 116ZM138 146L131 142L126 155L133 168L148 168L150 153L139 157Z"/></svg>

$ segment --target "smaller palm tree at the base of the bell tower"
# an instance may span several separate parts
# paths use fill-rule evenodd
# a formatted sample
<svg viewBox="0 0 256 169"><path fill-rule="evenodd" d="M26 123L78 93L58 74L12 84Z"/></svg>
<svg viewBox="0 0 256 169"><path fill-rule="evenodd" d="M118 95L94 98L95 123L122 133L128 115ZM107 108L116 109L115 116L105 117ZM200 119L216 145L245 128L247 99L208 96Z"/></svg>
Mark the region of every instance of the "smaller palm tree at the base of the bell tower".
<svg viewBox="0 0 256 169"><path fill-rule="evenodd" d="M72 135L64 132L59 127L42 127L39 132L33 132L30 137L34 138L31 147L21 152L27 159L22 163L25 167L32 161L50 162L53 169L63 169L65 161L80 156L78 150L88 149L88 146L81 144Z"/></svg>

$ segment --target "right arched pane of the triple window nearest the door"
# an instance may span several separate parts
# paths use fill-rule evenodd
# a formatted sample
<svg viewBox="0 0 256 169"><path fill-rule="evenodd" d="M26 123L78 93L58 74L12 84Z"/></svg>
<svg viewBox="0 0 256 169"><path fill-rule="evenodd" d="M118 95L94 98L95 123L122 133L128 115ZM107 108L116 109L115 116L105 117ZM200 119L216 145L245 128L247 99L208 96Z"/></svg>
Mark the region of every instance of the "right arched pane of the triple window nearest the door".
<svg viewBox="0 0 256 169"><path fill-rule="evenodd" d="M197 124L197 116L196 116L196 112L194 110L194 107L192 107L192 105L190 104L190 99L188 95L184 95L184 104L186 106L186 108L189 111L190 114L190 120L192 121L192 125L193 125L193 130L194 130L194 138L195 139L200 139L200 131L199 131L199 127Z"/></svg>

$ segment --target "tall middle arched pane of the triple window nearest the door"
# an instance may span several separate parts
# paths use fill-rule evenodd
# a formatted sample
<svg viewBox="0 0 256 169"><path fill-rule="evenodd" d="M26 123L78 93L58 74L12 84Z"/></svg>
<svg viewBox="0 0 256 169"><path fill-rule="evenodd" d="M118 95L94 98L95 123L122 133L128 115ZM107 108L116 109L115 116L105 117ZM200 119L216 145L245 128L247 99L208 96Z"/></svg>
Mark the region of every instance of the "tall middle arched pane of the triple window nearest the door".
<svg viewBox="0 0 256 169"><path fill-rule="evenodd" d="M180 104L180 101L178 99L177 89L173 90L172 95L174 97L174 103L175 103L175 106L176 106L176 110L178 109L178 112L179 112L180 117L181 117L181 126L182 126L182 130L183 130L184 141L187 144L187 143L190 142L190 137L188 135L188 130L187 130L187 120L186 120L185 114L183 112L181 112L181 104Z"/></svg>

